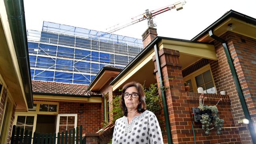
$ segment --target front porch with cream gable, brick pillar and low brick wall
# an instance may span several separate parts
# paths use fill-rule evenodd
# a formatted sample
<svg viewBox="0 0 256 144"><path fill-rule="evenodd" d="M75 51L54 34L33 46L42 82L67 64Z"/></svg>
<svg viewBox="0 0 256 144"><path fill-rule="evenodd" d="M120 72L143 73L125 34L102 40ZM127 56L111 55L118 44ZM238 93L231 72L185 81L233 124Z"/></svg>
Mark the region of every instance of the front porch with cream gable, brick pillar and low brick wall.
<svg viewBox="0 0 256 144"><path fill-rule="evenodd" d="M159 61L155 57L156 49L154 47L158 48ZM112 89L109 88L109 90L113 93L118 92L125 83L130 81L137 81L145 87L149 87L152 83L158 83L159 87L163 83L163 86L169 87L165 91L165 100L162 99L160 114L161 120L164 122L161 127L165 131L163 133L165 143L170 143L167 137L171 137L173 143L193 142L193 131L195 131L195 138L199 143L202 143L206 138L209 143L221 143L224 142L225 138L233 137L235 139L228 141L239 141L238 129L234 127L230 110L229 96L217 94L219 91L215 86L210 64L216 60L217 56L212 44L157 37L132 63L113 78L110 82ZM159 74L158 65L161 74ZM189 92L185 90L185 81L191 85ZM200 96L197 93L198 87L203 87L204 96L207 97L207 105L216 105L219 99L222 99L217 105L219 116L224 119L222 135L217 135L216 129L213 129L211 130L212 134L207 136L202 130L202 124L194 122L191 108L198 107ZM106 91L106 89L100 91ZM161 92L159 95L161 96ZM111 98L115 96L113 94ZM167 113L164 111L165 107ZM111 138L109 135L106 137Z"/></svg>

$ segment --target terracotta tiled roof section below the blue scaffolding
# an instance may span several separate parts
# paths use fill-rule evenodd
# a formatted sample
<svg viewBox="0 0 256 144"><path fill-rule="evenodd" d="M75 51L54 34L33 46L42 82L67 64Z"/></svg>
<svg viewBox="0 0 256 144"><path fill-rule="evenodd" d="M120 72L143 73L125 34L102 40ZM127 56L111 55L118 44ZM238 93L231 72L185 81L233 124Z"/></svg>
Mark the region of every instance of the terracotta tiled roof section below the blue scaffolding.
<svg viewBox="0 0 256 144"><path fill-rule="evenodd" d="M87 90L87 87L88 85L32 80L33 92L71 94L74 96L90 96L91 94L98 94Z"/></svg>

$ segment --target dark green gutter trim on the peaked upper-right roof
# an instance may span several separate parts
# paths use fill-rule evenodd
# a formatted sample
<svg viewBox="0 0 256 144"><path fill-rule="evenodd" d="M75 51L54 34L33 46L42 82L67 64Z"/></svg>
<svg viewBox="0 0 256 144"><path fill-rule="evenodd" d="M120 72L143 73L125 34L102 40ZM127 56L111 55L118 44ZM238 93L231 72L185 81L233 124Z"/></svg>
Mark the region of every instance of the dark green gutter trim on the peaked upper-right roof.
<svg viewBox="0 0 256 144"><path fill-rule="evenodd" d="M249 17L247 15L244 15L242 13L238 13L237 11L234 10L230 10L227 13L225 13L221 18L219 18L218 20L216 20L215 22L213 22L213 24L211 24L210 26L208 26L208 28L206 28L205 30L203 30L202 32L200 32L197 36L195 36L193 39L191 39L192 41L197 41L198 39L200 39L201 37L203 37L204 35L206 35L210 30L213 30L214 28L216 28L217 26L219 26L221 23L223 23L225 20L227 20L230 17L234 17L237 18L239 20L243 20L249 24L254 24L256 25L256 19Z"/></svg>

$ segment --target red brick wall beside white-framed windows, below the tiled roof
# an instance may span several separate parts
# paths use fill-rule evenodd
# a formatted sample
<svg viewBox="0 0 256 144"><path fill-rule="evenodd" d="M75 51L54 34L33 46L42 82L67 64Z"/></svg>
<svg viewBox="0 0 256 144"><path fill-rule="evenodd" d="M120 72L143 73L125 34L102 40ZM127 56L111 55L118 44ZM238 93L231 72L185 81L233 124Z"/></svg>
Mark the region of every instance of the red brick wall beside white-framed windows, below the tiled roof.
<svg viewBox="0 0 256 144"><path fill-rule="evenodd" d="M83 134L96 133L101 127L101 103L59 102L59 114L76 114L77 126L83 126ZM83 113L78 113L83 111Z"/></svg>

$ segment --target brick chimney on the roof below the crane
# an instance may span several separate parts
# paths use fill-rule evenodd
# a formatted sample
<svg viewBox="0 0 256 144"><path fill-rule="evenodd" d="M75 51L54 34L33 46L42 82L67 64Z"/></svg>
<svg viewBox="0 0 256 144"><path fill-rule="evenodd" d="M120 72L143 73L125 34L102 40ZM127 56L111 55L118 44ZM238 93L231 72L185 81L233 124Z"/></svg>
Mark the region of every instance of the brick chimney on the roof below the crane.
<svg viewBox="0 0 256 144"><path fill-rule="evenodd" d="M148 28L142 35L143 48L157 36L156 28Z"/></svg>

